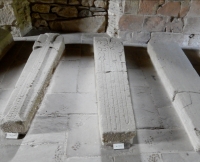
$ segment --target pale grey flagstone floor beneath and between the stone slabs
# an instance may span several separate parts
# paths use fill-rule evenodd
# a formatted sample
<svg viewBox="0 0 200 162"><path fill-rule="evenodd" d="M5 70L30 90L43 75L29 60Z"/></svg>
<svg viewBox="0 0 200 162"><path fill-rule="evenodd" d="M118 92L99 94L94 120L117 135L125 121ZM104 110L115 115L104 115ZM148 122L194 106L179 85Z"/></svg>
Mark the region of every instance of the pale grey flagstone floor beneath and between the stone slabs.
<svg viewBox="0 0 200 162"><path fill-rule="evenodd" d="M91 35L65 36L66 50L25 137L0 132L0 162L200 162L142 47L125 47L137 136L130 149L101 145ZM0 118L33 42L0 61ZM186 51L199 71L197 51Z"/></svg>

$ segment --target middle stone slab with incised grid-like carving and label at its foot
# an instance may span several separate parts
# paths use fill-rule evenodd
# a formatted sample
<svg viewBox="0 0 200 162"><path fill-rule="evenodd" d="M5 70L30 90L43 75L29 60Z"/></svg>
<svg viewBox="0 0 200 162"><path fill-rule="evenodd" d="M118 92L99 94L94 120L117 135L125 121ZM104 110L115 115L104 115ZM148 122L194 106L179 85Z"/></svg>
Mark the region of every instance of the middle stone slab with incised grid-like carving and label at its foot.
<svg viewBox="0 0 200 162"><path fill-rule="evenodd" d="M136 127L123 44L94 38L94 55L102 143L132 144Z"/></svg>

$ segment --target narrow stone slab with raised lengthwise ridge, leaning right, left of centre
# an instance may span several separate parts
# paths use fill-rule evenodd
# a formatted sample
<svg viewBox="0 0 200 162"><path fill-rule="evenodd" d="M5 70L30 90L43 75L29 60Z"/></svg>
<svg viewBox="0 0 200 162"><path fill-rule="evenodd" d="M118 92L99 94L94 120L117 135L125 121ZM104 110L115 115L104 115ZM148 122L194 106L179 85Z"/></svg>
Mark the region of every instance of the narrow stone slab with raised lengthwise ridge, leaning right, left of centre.
<svg viewBox="0 0 200 162"><path fill-rule="evenodd" d="M26 133L63 51L63 37L40 35L5 108L1 129Z"/></svg>

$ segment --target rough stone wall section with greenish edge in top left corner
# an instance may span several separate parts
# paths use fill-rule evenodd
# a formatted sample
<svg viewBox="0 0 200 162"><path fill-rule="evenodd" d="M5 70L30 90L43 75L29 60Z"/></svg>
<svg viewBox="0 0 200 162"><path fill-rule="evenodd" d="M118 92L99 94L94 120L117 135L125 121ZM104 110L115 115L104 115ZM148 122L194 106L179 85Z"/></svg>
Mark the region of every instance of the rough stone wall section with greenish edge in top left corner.
<svg viewBox="0 0 200 162"><path fill-rule="evenodd" d="M13 36L23 36L32 28L27 0L0 0L0 27Z"/></svg>

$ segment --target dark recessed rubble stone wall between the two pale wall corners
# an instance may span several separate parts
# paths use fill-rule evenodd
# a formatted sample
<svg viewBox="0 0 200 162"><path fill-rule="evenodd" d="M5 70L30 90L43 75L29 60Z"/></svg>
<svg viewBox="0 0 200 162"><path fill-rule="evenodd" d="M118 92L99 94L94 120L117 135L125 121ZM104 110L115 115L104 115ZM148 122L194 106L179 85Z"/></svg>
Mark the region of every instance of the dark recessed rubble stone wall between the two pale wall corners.
<svg viewBox="0 0 200 162"><path fill-rule="evenodd" d="M36 29L105 32L107 0L29 0Z"/></svg>

